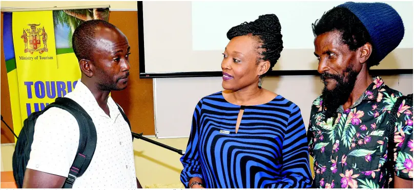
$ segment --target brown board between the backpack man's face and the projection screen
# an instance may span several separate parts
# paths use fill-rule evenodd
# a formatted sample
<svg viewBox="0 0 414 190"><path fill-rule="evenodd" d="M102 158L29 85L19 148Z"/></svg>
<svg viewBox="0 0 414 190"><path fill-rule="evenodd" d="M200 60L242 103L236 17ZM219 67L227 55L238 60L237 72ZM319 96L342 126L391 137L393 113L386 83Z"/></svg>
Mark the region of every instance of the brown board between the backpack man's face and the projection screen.
<svg viewBox="0 0 414 190"><path fill-rule="evenodd" d="M144 135L155 134L154 96L152 79L139 78L138 17L136 11L111 11L109 22L128 38L131 46L130 77L128 87L113 91L112 98L127 113L132 131Z"/></svg>

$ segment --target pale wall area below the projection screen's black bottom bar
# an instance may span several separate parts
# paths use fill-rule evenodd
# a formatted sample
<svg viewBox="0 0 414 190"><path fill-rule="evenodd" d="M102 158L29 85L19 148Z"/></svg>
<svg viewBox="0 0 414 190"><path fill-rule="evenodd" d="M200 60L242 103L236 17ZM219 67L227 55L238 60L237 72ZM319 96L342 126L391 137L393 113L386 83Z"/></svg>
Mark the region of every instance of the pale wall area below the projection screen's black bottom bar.
<svg viewBox="0 0 414 190"><path fill-rule="evenodd" d="M385 84L412 93L412 74L382 76ZM204 97L222 90L221 77L154 79L155 128L158 138L188 137L194 108ZM318 76L265 77L263 88L274 91L299 106L307 127L310 106L323 84Z"/></svg>

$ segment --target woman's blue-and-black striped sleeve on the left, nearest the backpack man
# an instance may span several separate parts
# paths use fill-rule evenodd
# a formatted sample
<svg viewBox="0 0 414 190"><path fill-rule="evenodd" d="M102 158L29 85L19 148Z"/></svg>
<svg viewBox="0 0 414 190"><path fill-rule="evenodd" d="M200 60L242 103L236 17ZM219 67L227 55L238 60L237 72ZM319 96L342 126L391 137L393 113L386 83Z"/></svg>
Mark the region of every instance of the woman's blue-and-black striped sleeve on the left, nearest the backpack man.
<svg viewBox="0 0 414 190"><path fill-rule="evenodd" d="M180 158L180 161L183 166L181 171L180 180L182 184L188 188L188 184L191 178L193 177L202 177L201 166L200 166L200 155L198 152L198 141L199 141L199 129L200 129L200 112L201 112L202 100L198 102L194 114L193 122L191 126L191 133L189 142L187 144L187 149L185 154Z"/></svg>

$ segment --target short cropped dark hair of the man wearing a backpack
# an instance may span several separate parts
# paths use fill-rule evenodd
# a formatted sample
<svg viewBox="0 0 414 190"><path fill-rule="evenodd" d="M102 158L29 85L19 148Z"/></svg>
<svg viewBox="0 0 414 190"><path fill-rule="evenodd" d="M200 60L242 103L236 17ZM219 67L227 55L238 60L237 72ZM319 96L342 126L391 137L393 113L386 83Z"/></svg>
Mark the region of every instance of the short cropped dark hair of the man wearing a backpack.
<svg viewBox="0 0 414 190"><path fill-rule="evenodd" d="M98 26L116 29L111 23L96 19L82 22L73 32L73 52L78 60L88 59L93 61L92 53L96 47L95 33Z"/></svg>

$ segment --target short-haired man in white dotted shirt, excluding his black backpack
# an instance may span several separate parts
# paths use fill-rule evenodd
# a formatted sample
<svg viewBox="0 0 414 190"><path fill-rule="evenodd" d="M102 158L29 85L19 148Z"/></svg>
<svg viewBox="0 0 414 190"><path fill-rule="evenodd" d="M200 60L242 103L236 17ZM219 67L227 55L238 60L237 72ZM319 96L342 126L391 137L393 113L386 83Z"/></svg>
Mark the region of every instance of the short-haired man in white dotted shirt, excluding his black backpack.
<svg viewBox="0 0 414 190"><path fill-rule="evenodd" d="M72 38L81 79L65 97L91 116L97 143L91 163L73 188L142 188L135 174L131 131L111 90L127 87L130 46L127 37L103 20L82 23ZM61 188L79 145L79 126L69 112L52 107L35 124L24 188Z"/></svg>

